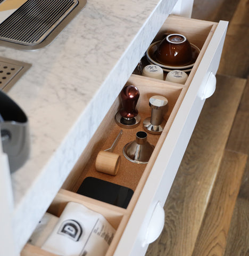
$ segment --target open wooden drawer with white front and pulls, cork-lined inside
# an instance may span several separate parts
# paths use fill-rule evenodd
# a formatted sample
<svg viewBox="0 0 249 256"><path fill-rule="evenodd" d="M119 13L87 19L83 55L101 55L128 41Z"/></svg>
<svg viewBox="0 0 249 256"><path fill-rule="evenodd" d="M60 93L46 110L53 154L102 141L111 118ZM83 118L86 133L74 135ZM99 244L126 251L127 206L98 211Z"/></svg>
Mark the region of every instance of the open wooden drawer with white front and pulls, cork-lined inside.
<svg viewBox="0 0 249 256"><path fill-rule="evenodd" d="M106 255L144 255L148 243L160 234L164 224L162 207L205 98L215 89L214 74L219 66L226 28L227 22L224 21L213 23L175 16L167 18L155 40L164 33L174 32L184 34L190 43L201 49L186 83L180 85L131 75L127 85L137 86L140 92L137 104L141 116L139 126L123 129L115 123L114 116L120 109L118 97L49 207L49 213L60 216L66 203L74 201L102 213L117 229ZM143 120L151 115L148 99L153 95L163 95L168 99L169 109L164 115L167 123L161 135L148 133L148 141L155 146L148 164L131 163L124 158L122 149L135 139L137 131L143 131ZM122 137L114 149L121 156L118 174L97 172L95 159L99 150L109 148L121 129ZM134 194L127 209L76 194L88 176L131 188ZM27 244L21 255L54 254Z"/></svg>

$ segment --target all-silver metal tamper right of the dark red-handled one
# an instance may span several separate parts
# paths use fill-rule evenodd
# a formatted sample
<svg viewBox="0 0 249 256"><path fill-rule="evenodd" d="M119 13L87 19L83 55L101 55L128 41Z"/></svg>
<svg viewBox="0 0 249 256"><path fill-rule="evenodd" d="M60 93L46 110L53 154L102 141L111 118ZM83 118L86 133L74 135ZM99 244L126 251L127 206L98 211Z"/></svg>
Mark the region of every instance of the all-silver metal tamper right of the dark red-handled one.
<svg viewBox="0 0 249 256"><path fill-rule="evenodd" d="M160 134L163 131L163 115L168 110L168 99L155 95L150 98L151 117L144 120L144 129L153 134Z"/></svg>

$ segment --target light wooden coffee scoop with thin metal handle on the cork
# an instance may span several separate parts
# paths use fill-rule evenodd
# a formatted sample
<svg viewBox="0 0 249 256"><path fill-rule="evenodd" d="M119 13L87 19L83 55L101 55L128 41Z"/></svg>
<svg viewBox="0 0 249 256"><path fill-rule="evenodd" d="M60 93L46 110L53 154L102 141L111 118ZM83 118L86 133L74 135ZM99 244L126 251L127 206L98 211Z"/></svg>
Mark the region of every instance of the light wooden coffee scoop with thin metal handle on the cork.
<svg viewBox="0 0 249 256"><path fill-rule="evenodd" d="M121 130L110 148L99 151L95 161L95 168L98 172L110 175L118 173L121 158L119 154L113 153L113 149L117 145L122 133L123 131Z"/></svg>

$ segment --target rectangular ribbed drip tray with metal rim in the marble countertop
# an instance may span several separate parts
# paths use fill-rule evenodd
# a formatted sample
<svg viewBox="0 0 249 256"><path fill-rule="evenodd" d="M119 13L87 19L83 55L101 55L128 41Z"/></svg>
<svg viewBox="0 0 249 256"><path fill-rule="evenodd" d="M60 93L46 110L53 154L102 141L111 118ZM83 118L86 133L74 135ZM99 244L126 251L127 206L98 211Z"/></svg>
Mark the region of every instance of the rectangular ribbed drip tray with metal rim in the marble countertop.
<svg viewBox="0 0 249 256"><path fill-rule="evenodd" d="M9 6L5 7L10 1ZM20 3L16 1L16 6ZM12 11L0 23L0 45L19 50L40 49L68 25L74 16L86 5L86 0L22 0L16 10L13 0L1 4L3 11ZM19 4L20 5L20 4ZM13 9L13 10L11 10ZM15 10L15 11L14 11ZM0 8L1 14L1 8Z"/></svg>

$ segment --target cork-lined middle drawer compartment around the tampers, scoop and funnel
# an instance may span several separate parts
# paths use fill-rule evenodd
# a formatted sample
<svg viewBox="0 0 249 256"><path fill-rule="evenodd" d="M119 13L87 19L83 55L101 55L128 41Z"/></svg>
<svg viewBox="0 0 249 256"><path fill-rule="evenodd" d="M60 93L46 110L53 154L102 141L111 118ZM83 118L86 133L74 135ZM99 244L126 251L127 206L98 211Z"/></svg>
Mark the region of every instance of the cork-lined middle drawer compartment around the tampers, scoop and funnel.
<svg viewBox="0 0 249 256"><path fill-rule="evenodd" d="M90 140L88 147L85 149L84 153L82 153L82 157L80 157L80 160L78 162L81 167L79 168L77 166L70 173L69 178L62 187L63 189L76 192L82 181L86 177L90 176L117 183L121 186L128 187L136 192L136 188L142 176L147 176L146 173L149 172L147 171L147 169L149 169L149 167L147 166L151 166L151 161L147 165L132 163L123 156L123 147L128 142L135 140L136 133L138 131L144 131L143 120L151 116L151 109L148 104L148 100L150 99L150 97L152 97L153 95L162 95L166 97L169 101L169 109L164 115L164 120L167 120L167 124L165 125L164 131L161 135L148 133L147 137L148 142L155 146L152 158L156 157L156 152L160 150L160 142L159 145L157 145L157 141L159 141L160 137L165 137L167 131L169 130L170 122L172 122L173 118L173 116L171 117L171 113L179 99L182 87L168 85L167 83L162 83L161 81L151 82L135 76L131 77L128 80L127 85L129 84L136 86L140 92L140 97L137 103L138 113L141 116L140 124L134 129L124 129L116 124L114 117L121 106L120 97L118 97L117 100L113 103L113 106L110 109L109 113L105 116L104 121L98 127L98 130L96 131L94 137L92 138L92 140ZM113 153L117 153L121 156L119 172L115 176L108 175L102 172L97 172L95 170L95 160L99 150L105 150L107 148L110 148L121 129L123 131L123 134L113 151ZM143 179L146 178L144 177Z"/></svg>

